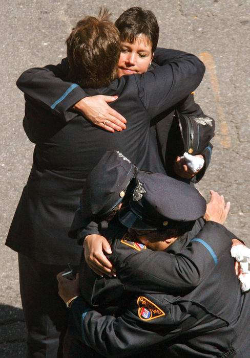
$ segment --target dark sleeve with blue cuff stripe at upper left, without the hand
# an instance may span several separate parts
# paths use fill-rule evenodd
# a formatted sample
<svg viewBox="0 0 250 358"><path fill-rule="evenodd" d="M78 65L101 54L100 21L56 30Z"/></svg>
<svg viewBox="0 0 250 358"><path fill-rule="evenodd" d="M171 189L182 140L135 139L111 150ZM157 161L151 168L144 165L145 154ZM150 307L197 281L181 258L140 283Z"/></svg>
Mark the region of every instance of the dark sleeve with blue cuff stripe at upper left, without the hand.
<svg viewBox="0 0 250 358"><path fill-rule="evenodd" d="M68 73L68 61L64 59L57 65L25 71L16 85L26 95L67 122L77 116L70 108L88 96L78 84L67 81Z"/></svg>

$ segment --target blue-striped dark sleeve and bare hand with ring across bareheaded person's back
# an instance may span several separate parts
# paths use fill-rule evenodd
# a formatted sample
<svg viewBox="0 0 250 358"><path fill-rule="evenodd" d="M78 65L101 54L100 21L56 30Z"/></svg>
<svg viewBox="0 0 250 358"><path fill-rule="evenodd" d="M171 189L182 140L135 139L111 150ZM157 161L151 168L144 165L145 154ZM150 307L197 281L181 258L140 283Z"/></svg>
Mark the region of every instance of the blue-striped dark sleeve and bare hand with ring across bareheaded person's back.
<svg viewBox="0 0 250 358"><path fill-rule="evenodd" d="M111 132L126 128L126 119L108 105L117 96L89 97L78 84L68 80L68 75L69 64L65 58L57 65L25 71L16 84L26 95L66 122L80 113L92 123Z"/></svg>

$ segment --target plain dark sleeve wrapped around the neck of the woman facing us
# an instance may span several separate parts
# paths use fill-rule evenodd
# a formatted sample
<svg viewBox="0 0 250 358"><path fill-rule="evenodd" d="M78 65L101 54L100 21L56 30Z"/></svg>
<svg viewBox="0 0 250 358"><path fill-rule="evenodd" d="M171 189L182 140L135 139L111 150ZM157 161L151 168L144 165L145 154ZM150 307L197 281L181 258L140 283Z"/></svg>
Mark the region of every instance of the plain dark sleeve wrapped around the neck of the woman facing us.
<svg viewBox="0 0 250 358"><path fill-rule="evenodd" d="M136 76L140 99L151 118L190 95L205 72L198 57L177 50L158 48L154 61L158 68Z"/></svg>

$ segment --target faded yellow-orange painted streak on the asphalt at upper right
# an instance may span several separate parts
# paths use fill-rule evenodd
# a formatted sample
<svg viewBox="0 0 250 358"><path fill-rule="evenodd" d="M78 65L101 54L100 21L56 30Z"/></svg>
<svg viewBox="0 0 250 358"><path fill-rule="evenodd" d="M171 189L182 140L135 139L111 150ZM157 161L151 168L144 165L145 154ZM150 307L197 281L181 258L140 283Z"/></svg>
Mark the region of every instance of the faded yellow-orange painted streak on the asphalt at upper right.
<svg viewBox="0 0 250 358"><path fill-rule="evenodd" d="M227 123L224 120L224 118L225 118L224 111L220 104L221 103L220 88L219 88L219 83L218 83L218 79L216 76L215 62L213 60L212 55L208 52L201 53L200 59L202 62L204 62L205 66L206 66L206 70L209 73L210 82L212 84L213 93L214 93L214 97L216 100L217 113L218 113L218 117L220 120L220 122L219 122L220 136L218 136L217 138L218 138L222 147L229 148L231 145L231 137L228 134Z"/></svg>

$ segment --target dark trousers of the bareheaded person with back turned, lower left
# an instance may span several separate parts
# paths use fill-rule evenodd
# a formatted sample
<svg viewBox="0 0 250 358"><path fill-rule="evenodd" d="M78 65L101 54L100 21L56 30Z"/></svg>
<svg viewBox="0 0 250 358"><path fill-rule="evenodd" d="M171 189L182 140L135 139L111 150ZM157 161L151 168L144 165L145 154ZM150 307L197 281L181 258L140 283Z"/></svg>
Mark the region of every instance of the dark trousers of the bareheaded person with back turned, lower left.
<svg viewBox="0 0 250 358"><path fill-rule="evenodd" d="M65 266L18 254L20 295L28 329L28 358L62 358L69 310L58 295L56 275Z"/></svg>

